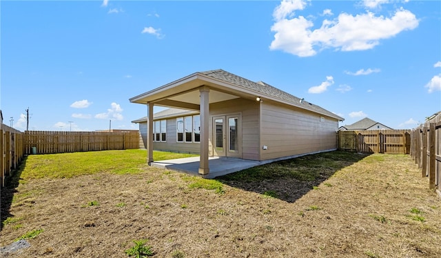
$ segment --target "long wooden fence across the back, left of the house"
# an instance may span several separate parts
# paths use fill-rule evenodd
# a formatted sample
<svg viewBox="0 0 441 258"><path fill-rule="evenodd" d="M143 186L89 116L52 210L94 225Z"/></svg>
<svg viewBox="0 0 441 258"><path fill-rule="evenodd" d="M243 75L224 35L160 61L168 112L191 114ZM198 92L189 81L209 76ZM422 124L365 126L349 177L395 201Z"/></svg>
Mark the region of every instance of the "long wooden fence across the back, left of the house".
<svg viewBox="0 0 441 258"><path fill-rule="evenodd" d="M25 131L25 154L49 154L139 148L139 132Z"/></svg>

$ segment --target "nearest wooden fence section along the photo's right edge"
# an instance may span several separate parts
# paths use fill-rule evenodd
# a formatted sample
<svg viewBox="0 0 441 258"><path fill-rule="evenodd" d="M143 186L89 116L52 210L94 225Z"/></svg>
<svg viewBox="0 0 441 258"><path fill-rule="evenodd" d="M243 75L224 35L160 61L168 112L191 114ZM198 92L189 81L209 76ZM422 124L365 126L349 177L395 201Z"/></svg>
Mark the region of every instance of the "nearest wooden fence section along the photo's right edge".
<svg viewBox="0 0 441 258"><path fill-rule="evenodd" d="M429 188L441 191L441 112L411 132L411 157L429 177Z"/></svg>

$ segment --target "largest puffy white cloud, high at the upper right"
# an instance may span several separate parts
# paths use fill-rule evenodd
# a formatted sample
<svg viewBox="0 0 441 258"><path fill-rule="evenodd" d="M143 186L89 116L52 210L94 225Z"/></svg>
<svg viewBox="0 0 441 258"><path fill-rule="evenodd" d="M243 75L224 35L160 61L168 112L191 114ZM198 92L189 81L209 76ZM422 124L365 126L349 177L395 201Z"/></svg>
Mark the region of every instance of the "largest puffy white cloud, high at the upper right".
<svg viewBox="0 0 441 258"><path fill-rule="evenodd" d="M391 17L376 16L373 12L363 14L339 14L336 19L322 21L320 28L312 30L314 23L305 17L293 17L294 10L305 7L288 5L285 1L274 10L275 32L269 48L283 50L299 57L310 57L324 48L341 51L368 50L382 39L389 39L404 30L418 27L418 19L409 10L399 9ZM287 19L287 17L291 17Z"/></svg>

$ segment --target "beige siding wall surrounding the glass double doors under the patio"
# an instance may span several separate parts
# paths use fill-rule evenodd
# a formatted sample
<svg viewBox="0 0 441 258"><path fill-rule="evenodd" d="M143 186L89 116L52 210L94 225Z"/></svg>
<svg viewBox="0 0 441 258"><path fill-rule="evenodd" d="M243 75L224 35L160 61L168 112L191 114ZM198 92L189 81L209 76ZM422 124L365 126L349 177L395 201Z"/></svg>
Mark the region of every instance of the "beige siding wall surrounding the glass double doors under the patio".
<svg viewBox="0 0 441 258"><path fill-rule="evenodd" d="M242 159L259 160L259 108L257 101L232 99L209 106L209 152L213 153L212 117L240 114L242 118Z"/></svg>

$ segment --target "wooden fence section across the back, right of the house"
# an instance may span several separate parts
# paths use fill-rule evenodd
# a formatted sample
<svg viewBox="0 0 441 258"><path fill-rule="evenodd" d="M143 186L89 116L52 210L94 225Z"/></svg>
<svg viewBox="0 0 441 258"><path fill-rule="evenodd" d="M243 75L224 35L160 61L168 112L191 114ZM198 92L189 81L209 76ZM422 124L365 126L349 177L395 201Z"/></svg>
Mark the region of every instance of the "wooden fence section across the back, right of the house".
<svg viewBox="0 0 441 258"><path fill-rule="evenodd" d="M409 154L411 130L340 130L338 149L355 152Z"/></svg>

